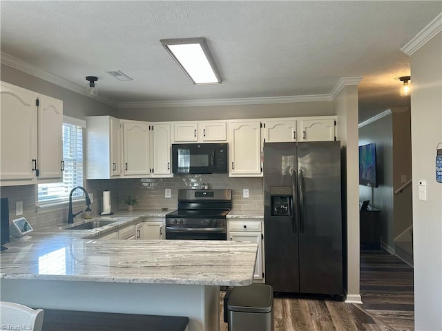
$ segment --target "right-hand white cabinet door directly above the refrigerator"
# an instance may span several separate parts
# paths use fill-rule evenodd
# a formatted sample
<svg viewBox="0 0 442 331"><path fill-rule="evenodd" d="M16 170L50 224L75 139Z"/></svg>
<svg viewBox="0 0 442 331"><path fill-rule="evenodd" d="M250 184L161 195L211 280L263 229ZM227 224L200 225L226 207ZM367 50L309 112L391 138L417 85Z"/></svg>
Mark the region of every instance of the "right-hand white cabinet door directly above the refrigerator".
<svg viewBox="0 0 442 331"><path fill-rule="evenodd" d="M298 141L333 141L335 139L335 119L298 120L301 137Z"/></svg>

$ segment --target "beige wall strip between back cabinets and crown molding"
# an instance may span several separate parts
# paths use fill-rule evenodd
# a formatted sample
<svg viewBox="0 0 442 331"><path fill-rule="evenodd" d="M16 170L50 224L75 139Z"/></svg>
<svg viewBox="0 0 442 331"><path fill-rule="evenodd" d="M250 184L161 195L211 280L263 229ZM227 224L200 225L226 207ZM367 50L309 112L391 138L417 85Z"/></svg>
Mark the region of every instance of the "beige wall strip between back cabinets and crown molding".
<svg viewBox="0 0 442 331"><path fill-rule="evenodd" d="M120 108L120 119L138 121L196 121L209 119L260 119L269 117L323 116L333 114L332 101L274 103L241 106L174 108Z"/></svg>

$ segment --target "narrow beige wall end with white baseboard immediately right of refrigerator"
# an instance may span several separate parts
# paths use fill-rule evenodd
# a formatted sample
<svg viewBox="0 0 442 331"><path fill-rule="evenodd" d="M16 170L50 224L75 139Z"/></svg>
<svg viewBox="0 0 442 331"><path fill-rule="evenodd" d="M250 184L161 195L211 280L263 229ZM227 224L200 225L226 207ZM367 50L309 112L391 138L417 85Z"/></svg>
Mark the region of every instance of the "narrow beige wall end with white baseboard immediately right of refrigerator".
<svg viewBox="0 0 442 331"><path fill-rule="evenodd" d="M347 232L347 301L360 302L357 86L343 88L334 99L333 108L338 117L338 140L342 149L343 219Z"/></svg>

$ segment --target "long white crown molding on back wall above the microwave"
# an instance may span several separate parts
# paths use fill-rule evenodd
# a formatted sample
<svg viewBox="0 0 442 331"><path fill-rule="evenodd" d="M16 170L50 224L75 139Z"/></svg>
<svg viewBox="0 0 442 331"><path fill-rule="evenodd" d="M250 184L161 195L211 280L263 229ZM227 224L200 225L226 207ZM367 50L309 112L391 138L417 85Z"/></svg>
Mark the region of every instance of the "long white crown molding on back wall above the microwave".
<svg viewBox="0 0 442 331"><path fill-rule="evenodd" d="M241 106L268 103L294 103L310 101L332 101L329 94L297 95L287 97L238 98L238 99L202 99L177 101L142 101L120 102L118 108L166 108L166 107L198 107L198 106Z"/></svg>

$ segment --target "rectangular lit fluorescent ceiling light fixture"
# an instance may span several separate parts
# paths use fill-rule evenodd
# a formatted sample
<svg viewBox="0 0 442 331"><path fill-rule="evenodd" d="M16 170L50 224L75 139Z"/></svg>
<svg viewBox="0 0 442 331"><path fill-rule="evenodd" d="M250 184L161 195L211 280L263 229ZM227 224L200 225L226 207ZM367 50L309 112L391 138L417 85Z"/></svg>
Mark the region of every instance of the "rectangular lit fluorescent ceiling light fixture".
<svg viewBox="0 0 442 331"><path fill-rule="evenodd" d="M192 83L222 82L204 38L162 39L160 42Z"/></svg>

